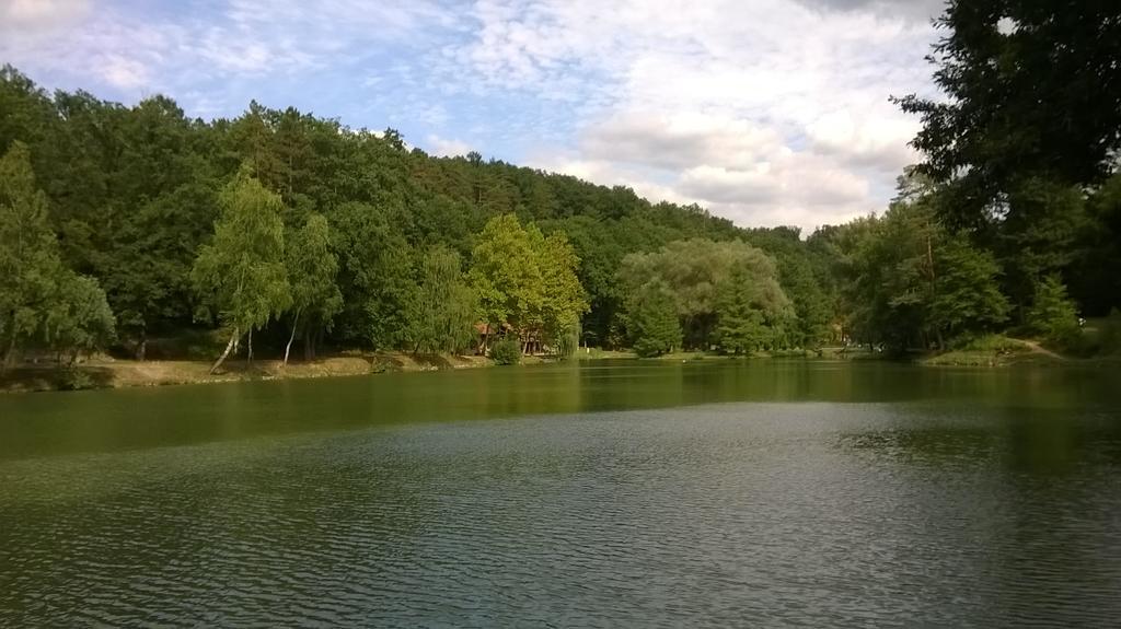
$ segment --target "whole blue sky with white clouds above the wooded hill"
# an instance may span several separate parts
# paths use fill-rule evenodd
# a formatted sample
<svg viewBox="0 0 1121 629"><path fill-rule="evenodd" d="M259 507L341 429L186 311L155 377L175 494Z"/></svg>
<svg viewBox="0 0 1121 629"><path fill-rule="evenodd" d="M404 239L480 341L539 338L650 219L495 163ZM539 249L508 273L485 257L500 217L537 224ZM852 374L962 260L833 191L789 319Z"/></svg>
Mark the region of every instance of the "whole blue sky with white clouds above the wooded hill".
<svg viewBox="0 0 1121 629"><path fill-rule="evenodd" d="M0 0L0 63L188 114L251 98L812 229L882 208L941 0Z"/></svg>

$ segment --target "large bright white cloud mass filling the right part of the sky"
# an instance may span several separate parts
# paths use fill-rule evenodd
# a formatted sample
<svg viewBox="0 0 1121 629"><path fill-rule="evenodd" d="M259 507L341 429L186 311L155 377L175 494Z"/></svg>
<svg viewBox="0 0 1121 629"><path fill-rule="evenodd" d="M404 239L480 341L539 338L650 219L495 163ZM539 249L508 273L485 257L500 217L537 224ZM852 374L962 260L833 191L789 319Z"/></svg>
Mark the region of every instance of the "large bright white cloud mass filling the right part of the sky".
<svg viewBox="0 0 1121 629"><path fill-rule="evenodd" d="M888 97L930 91L934 4L485 0L445 72L578 94L571 154L538 147L535 166L809 228L882 206L915 161L917 124Z"/></svg>

